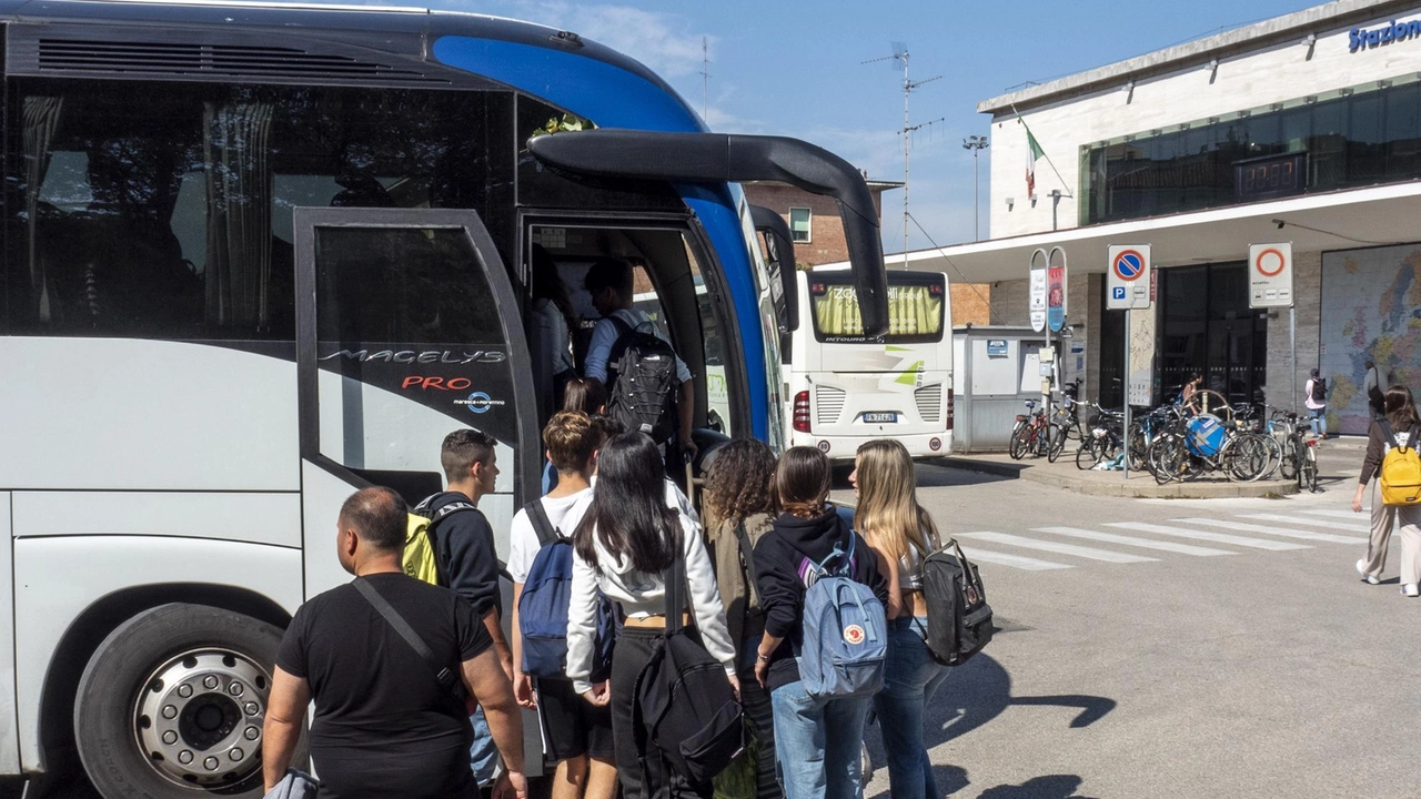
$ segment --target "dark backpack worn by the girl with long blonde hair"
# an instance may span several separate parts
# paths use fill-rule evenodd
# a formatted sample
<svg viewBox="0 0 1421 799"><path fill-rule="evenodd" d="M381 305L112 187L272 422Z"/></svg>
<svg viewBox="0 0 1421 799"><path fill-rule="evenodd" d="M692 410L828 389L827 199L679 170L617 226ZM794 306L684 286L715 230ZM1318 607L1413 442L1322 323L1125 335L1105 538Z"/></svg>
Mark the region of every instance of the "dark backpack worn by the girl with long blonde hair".
<svg viewBox="0 0 1421 799"><path fill-rule="evenodd" d="M939 547L922 564L928 603L928 651L944 665L961 665L992 640L992 606L982 576L958 542Z"/></svg>

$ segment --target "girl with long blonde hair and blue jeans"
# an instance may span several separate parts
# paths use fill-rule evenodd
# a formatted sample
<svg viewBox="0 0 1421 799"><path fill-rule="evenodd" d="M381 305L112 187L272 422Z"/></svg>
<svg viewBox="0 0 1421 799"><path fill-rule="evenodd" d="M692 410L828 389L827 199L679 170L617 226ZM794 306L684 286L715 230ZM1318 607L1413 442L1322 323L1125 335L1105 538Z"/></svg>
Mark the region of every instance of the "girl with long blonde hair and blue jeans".
<svg viewBox="0 0 1421 799"><path fill-rule="evenodd" d="M938 527L918 505L917 476L908 449L894 439L870 441L854 456L858 508L854 526L878 556L888 581L888 663L874 709L888 755L894 799L936 799L932 762L922 738L928 702L948 678L948 667L928 651L928 603L924 564L936 549Z"/></svg>

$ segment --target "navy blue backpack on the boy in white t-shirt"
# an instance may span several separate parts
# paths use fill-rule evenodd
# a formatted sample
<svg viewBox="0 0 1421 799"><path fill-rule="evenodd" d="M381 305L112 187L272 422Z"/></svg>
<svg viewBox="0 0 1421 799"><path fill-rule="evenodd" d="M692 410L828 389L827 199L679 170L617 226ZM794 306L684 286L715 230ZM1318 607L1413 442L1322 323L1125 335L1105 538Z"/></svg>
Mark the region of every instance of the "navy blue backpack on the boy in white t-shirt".
<svg viewBox="0 0 1421 799"><path fill-rule="evenodd" d="M567 608L573 603L573 539L553 527L541 499L523 506L541 549L533 559L519 596L519 630L523 633L523 674L567 678ZM617 617L611 601L600 596L597 636L593 644L591 682L611 674Z"/></svg>

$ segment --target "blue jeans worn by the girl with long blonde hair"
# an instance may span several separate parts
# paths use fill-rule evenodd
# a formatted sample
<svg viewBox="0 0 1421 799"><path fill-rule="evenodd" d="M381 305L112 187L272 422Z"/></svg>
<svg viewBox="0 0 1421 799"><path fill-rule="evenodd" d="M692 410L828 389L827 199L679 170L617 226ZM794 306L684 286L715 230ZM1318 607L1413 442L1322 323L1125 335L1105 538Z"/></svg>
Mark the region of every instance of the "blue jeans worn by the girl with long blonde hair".
<svg viewBox="0 0 1421 799"><path fill-rule="evenodd" d="M922 717L932 694L948 678L948 667L932 660L924 641L926 617L899 617L888 623L888 663L884 690L874 697L878 726L888 755L892 799L938 799L932 761L922 741Z"/></svg>

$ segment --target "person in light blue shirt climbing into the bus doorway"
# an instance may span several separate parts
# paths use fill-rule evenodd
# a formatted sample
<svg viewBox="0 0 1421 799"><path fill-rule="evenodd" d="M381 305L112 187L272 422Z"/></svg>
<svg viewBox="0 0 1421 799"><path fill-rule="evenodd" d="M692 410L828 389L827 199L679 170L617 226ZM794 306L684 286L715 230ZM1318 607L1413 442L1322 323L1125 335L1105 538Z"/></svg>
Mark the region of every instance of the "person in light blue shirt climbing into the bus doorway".
<svg viewBox="0 0 1421 799"><path fill-rule="evenodd" d="M651 318L645 311L632 307L632 269L625 260L615 257L598 259L587 270L583 286L591 296L593 307L603 317L598 320L597 327L593 328L593 340L587 347L587 358L583 363L583 375L603 381L603 385L611 392L614 391L614 382L608 380L608 375L612 364L608 361L624 330L614 321L614 317L630 330L637 330L645 324L655 331L658 338L668 343L671 340L666 338L661 328L649 324ZM676 401L676 446L672 446L671 451L674 452L679 446L682 456L695 459L696 445L691 441L691 425L696 409L695 385L691 381L691 370L679 355L676 357L676 380L681 381L681 391ZM679 476L679 471L676 475Z"/></svg>

